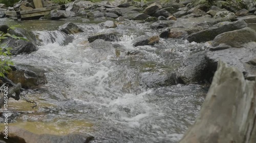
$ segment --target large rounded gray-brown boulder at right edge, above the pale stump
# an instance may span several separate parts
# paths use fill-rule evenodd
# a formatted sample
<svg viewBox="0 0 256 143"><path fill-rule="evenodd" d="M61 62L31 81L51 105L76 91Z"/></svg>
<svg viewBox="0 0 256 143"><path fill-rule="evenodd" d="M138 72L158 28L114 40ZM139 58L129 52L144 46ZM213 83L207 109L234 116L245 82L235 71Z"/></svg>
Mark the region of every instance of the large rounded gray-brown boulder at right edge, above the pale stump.
<svg viewBox="0 0 256 143"><path fill-rule="evenodd" d="M234 48L240 48L248 42L256 42L256 32L249 27L245 27L216 36L212 41L212 46L218 47L220 44L225 44Z"/></svg>

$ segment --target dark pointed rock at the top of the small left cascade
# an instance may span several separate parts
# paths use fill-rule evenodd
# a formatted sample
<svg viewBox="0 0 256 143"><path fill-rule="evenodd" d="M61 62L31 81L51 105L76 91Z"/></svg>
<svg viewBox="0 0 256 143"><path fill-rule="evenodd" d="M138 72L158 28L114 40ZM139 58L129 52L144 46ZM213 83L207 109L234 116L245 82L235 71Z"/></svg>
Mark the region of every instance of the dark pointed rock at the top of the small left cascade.
<svg viewBox="0 0 256 143"><path fill-rule="evenodd" d="M83 32L83 30L80 27L78 27L76 24L72 22L68 22L64 25L61 25L59 27L59 30L66 34L76 34L76 33Z"/></svg>

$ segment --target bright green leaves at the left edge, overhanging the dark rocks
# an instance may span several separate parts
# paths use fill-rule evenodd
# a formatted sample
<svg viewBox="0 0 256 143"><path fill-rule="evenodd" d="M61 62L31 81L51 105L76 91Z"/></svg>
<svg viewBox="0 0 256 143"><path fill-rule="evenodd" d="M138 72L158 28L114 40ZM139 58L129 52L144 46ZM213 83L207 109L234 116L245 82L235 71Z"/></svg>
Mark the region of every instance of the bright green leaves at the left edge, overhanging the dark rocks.
<svg viewBox="0 0 256 143"><path fill-rule="evenodd" d="M10 27L9 29L8 29L8 31L9 30L13 30L14 29L14 27ZM14 38L14 39L17 39L17 40L26 40L26 41L28 41L27 39L25 39L25 38L23 38L23 37L17 37L17 36L15 36L15 35L11 35L11 34L9 34L9 33L1 33L0 34L0 43L1 43L1 41L3 40L3 39L7 39L8 37L12 37L12 38ZM8 71L10 71L11 70L11 68L10 68L10 65L14 65L13 64L13 62L10 60L10 58L11 58L11 52L10 52L10 50L12 49L12 48L10 48L10 47L7 47L7 48L2 48L2 47L4 47L5 45L0 45L0 76L1 77L4 77L5 76L5 73L8 73Z"/></svg>

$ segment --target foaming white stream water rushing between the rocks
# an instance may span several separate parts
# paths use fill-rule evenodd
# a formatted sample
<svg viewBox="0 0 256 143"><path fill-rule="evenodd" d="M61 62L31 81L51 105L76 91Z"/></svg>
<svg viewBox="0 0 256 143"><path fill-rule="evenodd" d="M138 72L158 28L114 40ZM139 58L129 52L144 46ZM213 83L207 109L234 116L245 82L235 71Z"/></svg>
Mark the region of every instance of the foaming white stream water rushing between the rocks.
<svg viewBox="0 0 256 143"><path fill-rule="evenodd" d="M193 124L207 85L147 88L140 77L145 72L175 72L180 62L202 45L160 39L155 46L133 47L135 37L158 35L159 31L131 21L121 22L115 29L77 22L85 32L63 46L61 34L54 31L61 24L63 21L19 23L37 34L44 44L38 51L12 59L19 67L44 71L48 83L27 95L38 102L36 108L31 109L24 100L9 102L11 110L18 112L13 125L35 133L88 133L95 136L92 142L172 143ZM112 42L117 45L116 53L120 53L101 57L102 51L95 53L87 37L110 31L120 34L120 41ZM54 35L56 42L50 39ZM125 54L128 51L139 54Z"/></svg>

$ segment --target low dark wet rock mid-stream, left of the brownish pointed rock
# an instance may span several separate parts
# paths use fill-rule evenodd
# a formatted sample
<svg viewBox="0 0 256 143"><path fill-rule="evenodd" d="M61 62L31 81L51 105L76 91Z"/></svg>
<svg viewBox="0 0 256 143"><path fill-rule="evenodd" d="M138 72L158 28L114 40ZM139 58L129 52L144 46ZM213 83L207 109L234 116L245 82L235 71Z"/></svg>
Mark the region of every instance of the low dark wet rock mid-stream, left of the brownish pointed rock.
<svg viewBox="0 0 256 143"><path fill-rule="evenodd" d="M112 33L97 33L94 35L91 35L88 37L88 41L91 43L97 39L102 39L105 41L118 41L117 34L112 32Z"/></svg>

